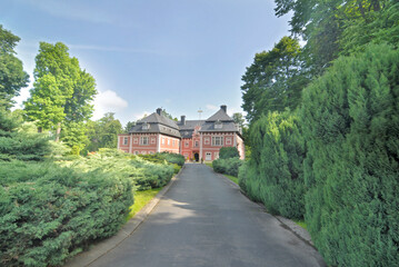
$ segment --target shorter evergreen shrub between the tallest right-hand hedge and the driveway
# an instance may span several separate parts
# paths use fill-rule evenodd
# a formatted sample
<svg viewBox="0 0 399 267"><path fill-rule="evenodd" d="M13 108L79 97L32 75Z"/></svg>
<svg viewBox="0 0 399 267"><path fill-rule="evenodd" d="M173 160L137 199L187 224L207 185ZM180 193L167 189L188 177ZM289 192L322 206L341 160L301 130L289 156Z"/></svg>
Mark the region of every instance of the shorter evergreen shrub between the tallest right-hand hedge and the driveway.
<svg viewBox="0 0 399 267"><path fill-rule="evenodd" d="M297 116L290 111L261 117L251 128L252 158L239 175L251 198L288 218L302 218L305 214L305 142L298 126Z"/></svg>

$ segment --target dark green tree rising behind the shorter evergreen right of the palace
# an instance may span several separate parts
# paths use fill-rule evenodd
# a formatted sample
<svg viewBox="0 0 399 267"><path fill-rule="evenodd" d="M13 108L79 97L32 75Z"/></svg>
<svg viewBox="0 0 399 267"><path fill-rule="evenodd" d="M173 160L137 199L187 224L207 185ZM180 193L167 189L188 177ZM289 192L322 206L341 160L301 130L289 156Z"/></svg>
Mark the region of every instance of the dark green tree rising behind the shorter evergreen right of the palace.
<svg viewBox="0 0 399 267"><path fill-rule="evenodd" d="M308 83L301 70L298 40L283 37L270 51L257 53L242 76L242 109L248 121L268 111L292 110L300 103L301 90Z"/></svg>

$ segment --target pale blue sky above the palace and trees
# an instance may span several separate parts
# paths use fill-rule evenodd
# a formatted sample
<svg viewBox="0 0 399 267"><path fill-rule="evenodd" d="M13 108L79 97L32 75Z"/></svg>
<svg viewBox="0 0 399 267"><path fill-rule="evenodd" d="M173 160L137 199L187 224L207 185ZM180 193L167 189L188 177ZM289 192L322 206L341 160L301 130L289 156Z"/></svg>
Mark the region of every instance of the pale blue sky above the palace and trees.
<svg viewBox="0 0 399 267"><path fill-rule="evenodd" d="M241 77L255 53L289 34L289 16L272 0L1 0L0 24L30 85L39 42L63 42L91 73L93 120L114 112L124 126L157 108L173 117L208 118L227 105L242 112Z"/></svg>

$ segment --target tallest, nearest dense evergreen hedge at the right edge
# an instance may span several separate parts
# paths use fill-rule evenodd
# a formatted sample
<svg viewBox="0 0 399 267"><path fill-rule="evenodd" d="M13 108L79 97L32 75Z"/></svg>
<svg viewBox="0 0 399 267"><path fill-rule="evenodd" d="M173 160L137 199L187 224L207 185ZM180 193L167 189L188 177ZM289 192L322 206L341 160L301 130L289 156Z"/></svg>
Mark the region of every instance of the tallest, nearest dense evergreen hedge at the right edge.
<svg viewBox="0 0 399 267"><path fill-rule="evenodd" d="M303 92L306 221L328 265L399 263L399 51L340 58Z"/></svg>

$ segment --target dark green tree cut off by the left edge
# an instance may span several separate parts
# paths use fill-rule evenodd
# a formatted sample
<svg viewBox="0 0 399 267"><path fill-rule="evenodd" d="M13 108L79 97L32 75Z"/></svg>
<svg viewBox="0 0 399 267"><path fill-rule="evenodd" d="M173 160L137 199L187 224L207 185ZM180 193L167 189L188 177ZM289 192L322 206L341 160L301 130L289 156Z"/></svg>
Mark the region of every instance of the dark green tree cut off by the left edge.
<svg viewBox="0 0 399 267"><path fill-rule="evenodd" d="M13 105L11 99L19 96L21 88L29 82L22 61L14 56L19 40L0 24L0 105L8 109Z"/></svg>

